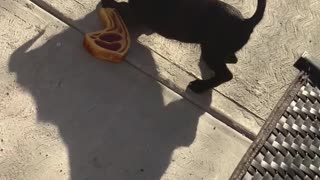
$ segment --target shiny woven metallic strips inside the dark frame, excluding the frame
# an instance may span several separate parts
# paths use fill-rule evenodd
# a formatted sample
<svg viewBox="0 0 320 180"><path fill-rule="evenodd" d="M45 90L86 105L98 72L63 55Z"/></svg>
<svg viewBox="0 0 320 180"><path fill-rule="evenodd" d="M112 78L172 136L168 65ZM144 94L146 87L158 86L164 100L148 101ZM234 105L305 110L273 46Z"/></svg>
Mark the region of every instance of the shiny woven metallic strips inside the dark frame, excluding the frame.
<svg viewBox="0 0 320 180"><path fill-rule="evenodd" d="M320 90L301 87L243 179L320 180Z"/></svg>

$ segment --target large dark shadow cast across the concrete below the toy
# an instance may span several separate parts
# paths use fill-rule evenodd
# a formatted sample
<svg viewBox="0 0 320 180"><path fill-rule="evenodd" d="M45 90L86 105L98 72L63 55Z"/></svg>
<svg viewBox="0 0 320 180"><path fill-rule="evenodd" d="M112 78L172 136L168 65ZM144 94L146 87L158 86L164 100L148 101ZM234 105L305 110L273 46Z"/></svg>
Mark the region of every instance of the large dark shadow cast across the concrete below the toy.
<svg viewBox="0 0 320 180"><path fill-rule="evenodd" d="M96 12L75 24L92 20L99 23ZM134 52L128 58L147 59L149 70L156 73L149 50L136 41L143 32L129 29ZM203 111L181 98L167 102L164 95L173 92L129 63L95 60L75 29L28 50L44 34L18 48L9 67L17 83L32 94L38 121L59 129L71 179L160 179L173 151L194 141ZM208 106L210 102L208 97Z"/></svg>

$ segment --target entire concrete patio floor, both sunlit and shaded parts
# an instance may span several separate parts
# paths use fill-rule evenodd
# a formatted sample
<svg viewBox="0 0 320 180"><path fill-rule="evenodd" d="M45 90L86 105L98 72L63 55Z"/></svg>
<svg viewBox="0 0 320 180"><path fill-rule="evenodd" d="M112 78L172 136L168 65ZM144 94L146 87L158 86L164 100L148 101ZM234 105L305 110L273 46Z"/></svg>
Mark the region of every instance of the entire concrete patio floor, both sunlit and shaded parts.
<svg viewBox="0 0 320 180"><path fill-rule="evenodd" d="M320 56L320 3L269 0L234 80L196 95L197 45L137 32L125 63L91 57L82 39L101 29L98 2L0 0L1 180L228 179L294 61Z"/></svg>

